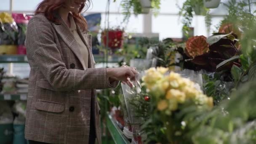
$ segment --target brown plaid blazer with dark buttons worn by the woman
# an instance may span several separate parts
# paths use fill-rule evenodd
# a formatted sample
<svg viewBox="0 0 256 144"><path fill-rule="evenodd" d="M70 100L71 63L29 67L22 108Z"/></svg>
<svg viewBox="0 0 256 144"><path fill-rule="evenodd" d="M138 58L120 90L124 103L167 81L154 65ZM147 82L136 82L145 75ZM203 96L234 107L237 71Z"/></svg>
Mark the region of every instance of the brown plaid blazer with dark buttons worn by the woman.
<svg viewBox="0 0 256 144"><path fill-rule="evenodd" d="M90 115L94 115L101 144L100 108L94 89L114 88L118 82L109 83L106 68L94 67L91 35L77 26L88 47L86 69L75 37L58 14L56 19L59 23L37 14L27 27L25 45L31 70L25 137L51 144L88 144Z"/></svg>

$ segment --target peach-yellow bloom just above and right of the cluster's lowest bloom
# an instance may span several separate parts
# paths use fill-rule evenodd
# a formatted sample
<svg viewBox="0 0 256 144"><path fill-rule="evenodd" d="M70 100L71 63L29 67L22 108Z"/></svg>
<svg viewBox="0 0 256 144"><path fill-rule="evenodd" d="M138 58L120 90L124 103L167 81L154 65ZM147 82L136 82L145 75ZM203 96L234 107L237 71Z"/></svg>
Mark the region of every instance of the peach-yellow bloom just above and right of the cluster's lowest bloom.
<svg viewBox="0 0 256 144"><path fill-rule="evenodd" d="M179 103L184 103L186 96L184 92L181 92L176 89L171 89L167 92L166 99L176 99Z"/></svg>

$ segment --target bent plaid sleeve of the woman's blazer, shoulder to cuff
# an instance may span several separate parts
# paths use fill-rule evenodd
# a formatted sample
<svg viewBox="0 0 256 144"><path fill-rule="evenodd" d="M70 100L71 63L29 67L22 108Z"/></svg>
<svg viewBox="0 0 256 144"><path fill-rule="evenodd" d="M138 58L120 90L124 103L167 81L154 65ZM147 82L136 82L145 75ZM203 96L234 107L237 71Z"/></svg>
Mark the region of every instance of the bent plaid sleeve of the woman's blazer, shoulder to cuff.
<svg viewBox="0 0 256 144"><path fill-rule="evenodd" d="M53 27L49 21L34 16L27 27L27 57L34 61L40 72L56 91L103 89L116 86L109 83L106 68L86 70L67 69L61 59L60 49L54 40Z"/></svg>

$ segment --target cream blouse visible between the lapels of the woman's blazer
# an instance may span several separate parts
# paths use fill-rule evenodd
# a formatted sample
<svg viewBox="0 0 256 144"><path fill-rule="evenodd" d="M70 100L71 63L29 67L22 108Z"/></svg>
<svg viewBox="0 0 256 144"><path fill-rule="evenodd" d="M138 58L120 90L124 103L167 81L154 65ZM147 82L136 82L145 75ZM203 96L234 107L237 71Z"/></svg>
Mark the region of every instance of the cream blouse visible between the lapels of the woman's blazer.
<svg viewBox="0 0 256 144"><path fill-rule="evenodd" d="M88 68L88 61L89 61L88 49L86 48L85 43L83 43L83 40L81 39L80 35L77 33L77 27L75 25L73 16L69 16L69 21L70 21L70 30L73 33L75 40L77 41L77 44L80 49L80 53L83 56L83 60L85 62L85 67Z"/></svg>

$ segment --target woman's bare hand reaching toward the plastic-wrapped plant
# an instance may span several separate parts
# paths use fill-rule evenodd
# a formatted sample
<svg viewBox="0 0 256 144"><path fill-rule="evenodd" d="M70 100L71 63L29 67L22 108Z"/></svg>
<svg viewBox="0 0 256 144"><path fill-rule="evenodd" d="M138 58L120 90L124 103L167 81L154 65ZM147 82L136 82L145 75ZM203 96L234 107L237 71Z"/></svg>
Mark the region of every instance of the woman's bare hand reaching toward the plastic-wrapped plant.
<svg viewBox="0 0 256 144"><path fill-rule="evenodd" d="M107 68L107 76L109 78L127 83L130 87L133 86L130 80L134 80L136 74L138 72L133 67Z"/></svg>

